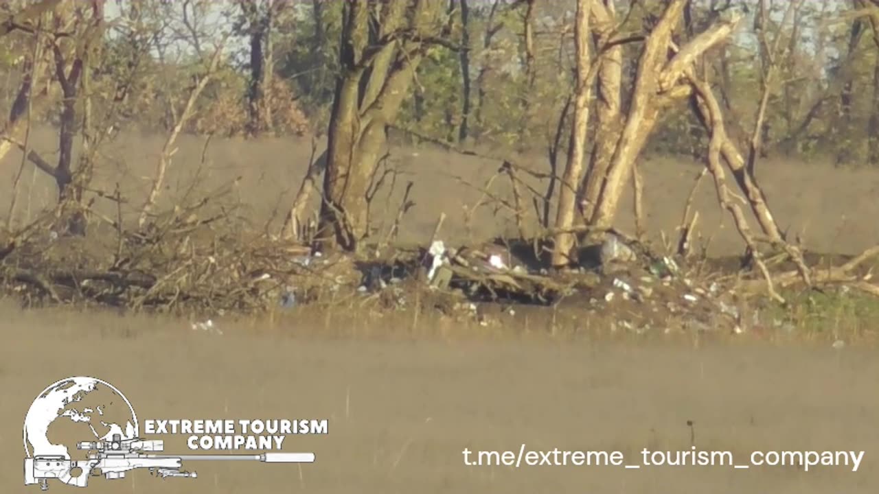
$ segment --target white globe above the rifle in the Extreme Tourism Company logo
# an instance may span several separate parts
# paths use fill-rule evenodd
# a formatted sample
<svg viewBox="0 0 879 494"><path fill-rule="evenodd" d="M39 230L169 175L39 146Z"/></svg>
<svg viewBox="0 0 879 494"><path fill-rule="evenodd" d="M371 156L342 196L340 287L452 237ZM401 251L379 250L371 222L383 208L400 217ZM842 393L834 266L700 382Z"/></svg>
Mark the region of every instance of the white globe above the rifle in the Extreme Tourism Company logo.
<svg viewBox="0 0 879 494"><path fill-rule="evenodd" d="M54 439L63 432L75 434L76 441L110 441L134 440L140 430L134 408L119 389L100 379L77 376L55 382L33 400L25 416L27 458L70 460L68 447Z"/></svg>

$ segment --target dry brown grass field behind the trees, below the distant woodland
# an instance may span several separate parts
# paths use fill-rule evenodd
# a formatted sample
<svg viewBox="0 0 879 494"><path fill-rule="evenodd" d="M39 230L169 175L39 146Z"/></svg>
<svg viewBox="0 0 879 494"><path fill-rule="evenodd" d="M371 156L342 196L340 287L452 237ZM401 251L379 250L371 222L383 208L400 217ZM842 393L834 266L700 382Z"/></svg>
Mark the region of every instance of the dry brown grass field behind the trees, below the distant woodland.
<svg viewBox="0 0 879 494"><path fill-rule="evenodd" d="M51 151L57 149L56 139L57 134L51 129L35 129L32 147L40 150L51 163L55 159ZM158 134L123 134L101 149L103 163L96 171L94 186L113 193L115 184L120 183L123 197L130 201L122 210L126 219L136 217L149 191L163 139L163 135ZM318 142L318 153L323 150L322 146L323 142ZM534 171L548 171L546 156L519 156L498 150L483 150L483 154L508 158ZM243 205L254 227L261 228L271 221L277 229L287 212L286 207L298 191L309 156L311 142L306 138L260 141L214 138L206 147L205 138L181 136L165 181L166 189L159 198L160 204L169 207L185 197L190 201L198 200L241 177L225 199ZM0 170L5 177L14 176L19 160L20 154L11 153L0 161ZM441 236L448 243L483 241L493 236L514 234L512 214L503 208L495 214L490 200L473 215L470 229L464 222L464 207L472 208L477 204L486 181L495 174L499 164L495 159L461 156L430 145L395 146L390 149L389 167L398 171L396 186L391 191L391 178L388 178L387 185L376 195L374 223L385 229L389 227L396 216L405 184L411 180L415 184L411 199L416 206L403 218L400 241L426 243L440 213L447 214ZM56 189L52 179L38 171L32 180L32 169L28 167L22 180L18 206L22 214L26 212L28 197L32 210L54 203ZM654 158L644 160L641 169L650 238L658 240L661 232L675 238L674 229L680 223L686 196L701 171L701 165L681 158ZM879 241L879 222L872 221L879 215L879 201L876 200L879 197L879 171L840 170L825 163L767 160L759 164L757 175L781 228L787 229L792 237L802 236L807 249L854 254ZM10 184L11 179L0 183L0 198L9 197ZM545 189L545 185L534 185L541 192ZM502 176L492 183L490 193L509 200L510 189L509 180ZM526 200L530 203L530 198ZM627 193L623 201L619 227L632 232L634 221L630 194ZM112 202L98 200L95 206L107 216L116 217L116 207ZM729 214L717 206L716 193L708 178L701 184L694 207L700 211L699 232L706 239L711 238L709 254L741 253L744 244L739 240ZM2 211L5 215L6 207ZM532 223L529 226L534 228L534 214L530 209L529 214L527 220ZM536 229L530 233L536 233Z"/></svg>

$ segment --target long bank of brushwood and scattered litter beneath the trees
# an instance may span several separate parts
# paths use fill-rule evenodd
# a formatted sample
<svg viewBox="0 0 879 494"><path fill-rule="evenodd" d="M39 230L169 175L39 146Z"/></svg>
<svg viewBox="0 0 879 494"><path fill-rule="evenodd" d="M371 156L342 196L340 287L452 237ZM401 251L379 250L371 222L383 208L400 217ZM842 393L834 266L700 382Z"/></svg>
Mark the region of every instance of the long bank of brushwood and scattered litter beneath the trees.
<svg viewBox="0 0 879 494"><path fill-rule="evenodd" d="M218 229L225 230L231 229ZM601 265L550 273L539 263L526 262L524 250L502 243L454 248L438 239L427 249L389 250L384 258L370 251L368 258L354 258L262 237L223 236L213 229L196 236L187 222L123 233L121 239L40 231L0 265L4 286L34 301L99 301L214 315L221 309L256 312L320 301L375 307L372 313L379 316L390 310L439 309L444 316L482 325L527 317L526 307L533 306L607 317L617 331L638 334L680 329L741 334L767 327L794 331L783 319L768 323L771 316L761 325L759 308L742 303L743 283L754 280L703 275L684 258L653 255L614 234L594 246ZM45 232L50 232L50 243ZM862 275L858 283L866 280L868 275ZM847 288L842 285L841 294L850 293ZM491 316L480 312L492 303L504 309ZM211 319L192 326L193 331L222 334Z"/></svg>

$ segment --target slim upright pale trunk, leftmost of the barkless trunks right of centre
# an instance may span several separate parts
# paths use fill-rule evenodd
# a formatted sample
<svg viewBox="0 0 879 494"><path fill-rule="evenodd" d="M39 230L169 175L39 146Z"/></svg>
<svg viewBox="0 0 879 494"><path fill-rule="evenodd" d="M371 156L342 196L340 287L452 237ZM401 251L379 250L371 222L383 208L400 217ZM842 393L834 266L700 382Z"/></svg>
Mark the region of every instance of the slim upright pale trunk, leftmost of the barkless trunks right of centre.
<svg viewBox="0 0 879 494"><path fill-rule="evenodd" d="M570 133L568 161L564 166L562 188L556 209L556 236L553 242L553 267L570 265L575 237L570 231L574 225L577 185L583 175L586 147L586 126L589 123L589 97L592 93L589 69L592 65L589 48L589 11L593 0L577 0L574 40L576 45L577 85L574 89L573 127Z"/></svg>

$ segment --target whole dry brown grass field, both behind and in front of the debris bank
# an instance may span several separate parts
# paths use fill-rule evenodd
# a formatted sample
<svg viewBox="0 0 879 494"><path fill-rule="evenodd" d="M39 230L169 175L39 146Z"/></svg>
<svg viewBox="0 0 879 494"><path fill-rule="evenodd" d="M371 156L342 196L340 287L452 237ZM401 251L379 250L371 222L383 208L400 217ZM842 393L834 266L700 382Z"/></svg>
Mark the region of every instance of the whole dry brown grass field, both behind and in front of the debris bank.
<svg viewBox="0 0 879 494"><path fill-rule="evenodd" d="M54 149L53 135L40 130L34 147ZM161 145L161 136L122 136L105 149L105 163L111 164L98 171L96 186L112 190L120 182L123 195L138 205ZM164 207L181 200L193 183L204 193L240 175L228 200L246 207L255 226L278 210L275 228L310 155L305 140L217 139L200 167L203 140L185 137L179 148ZM0 163L4 176L18 170L19 157ZM535 170L545 166L541 156L510 157ZM447 214L441 236L450 243L512 231L509 214L498 217L488 209L475 216L469 231L462 206L475 204L480 193L454 178L481 186L498 162L412 147L394 149L392 159L402 175L391 199L376 200L374 208L382 219L392 218L405 181L415 182L417 206L403 222L401 241L425 243L440 212ZM642 169L650 236L673 236L698 165L655 159ZM19 211L26 211L28 196L32 210L51 202L54 185L46 177L38 172L32 182L27 171L25 178ZM801 234L811 250L855 253L879 241L879 172L766 161L759 178L781 226ZM502 182L498 194L505 193ZM0 183L0 198L8 198L9 181ZM96 205L115 214L110 204ZM697 206L701 233L713 237L710 252L739 253L741 244L708 183ZM133 211L126 211L129 218ZM623 220L621 226L629 227L631 219ZM303 309L272 321L220 318L220 335L192 331L190 321L171 318L24 311L0 301L0 383L7 389L0 492L25 491L19 424L33 397L76 374L112 382L141 419L330 420L326 436L287 437L285 451L316 453L311 465L187 462L199 478L160 480L137 472L116 483L94 479L94 492L874 492L879 353L873 319L863 314L875 313L875 306L860 317L851 308L834 310L819 319L803 316L802 328L783 334L711 338L608 336L594 328L576 338L548 338L541 331L545 319L525 324L524 310L499 328L480 329L430 318L411 328L409 316L374 319L349 311L330 317ZM822 327L807 329L807 319ZM836 338L846 345L833 348ZM169 452L188 453L183 440L156 439L165 440ZM796 466L463 464L464 448L518 451L522 443L534 450L621 451L628 463L640 461L645 447L730 451L737 463L757 450L865 454L857 472L851 466L807 472Z"/></svg>

